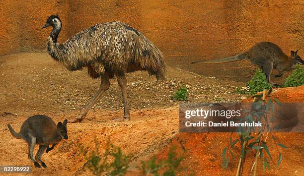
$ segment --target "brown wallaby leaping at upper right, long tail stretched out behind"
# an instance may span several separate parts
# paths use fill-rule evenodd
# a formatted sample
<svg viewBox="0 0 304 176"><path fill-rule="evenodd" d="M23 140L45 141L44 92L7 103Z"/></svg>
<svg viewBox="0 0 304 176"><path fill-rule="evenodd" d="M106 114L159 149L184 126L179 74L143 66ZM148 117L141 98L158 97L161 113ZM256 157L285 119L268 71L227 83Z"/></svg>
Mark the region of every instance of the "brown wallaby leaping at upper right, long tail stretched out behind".
<svg viewBox="0 0 304 176"><path fill-rule="evenodd" d="M255 44L249 50L233 57L194 61L191 63L224 63L249 59L252 64L257 65L262 69L263 73L266 75L267 81L277 87L278 84L270 82L272 69L277 69L279 73L275 75L275 77L280 77L283 75L283 71L291 70L297 63L304 64L304 60L301 59L297 53L298 50L296 52L291 51L291 56L289 57L283 53L282 49L278 45L271 42L260 42Z"/></svg>

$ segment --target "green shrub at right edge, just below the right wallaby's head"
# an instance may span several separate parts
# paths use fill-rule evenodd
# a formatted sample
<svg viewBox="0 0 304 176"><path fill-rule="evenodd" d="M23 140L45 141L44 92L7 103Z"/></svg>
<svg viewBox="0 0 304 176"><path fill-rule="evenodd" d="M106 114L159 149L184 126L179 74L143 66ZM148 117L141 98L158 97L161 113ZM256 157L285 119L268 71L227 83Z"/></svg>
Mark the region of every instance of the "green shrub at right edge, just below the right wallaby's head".
<svg viewBox="0 0 304 176"><path fill-rule="evenodd" d="M286 78L284 87L297 87L304 84L304 68L297 64L296 69Z"/></svg>

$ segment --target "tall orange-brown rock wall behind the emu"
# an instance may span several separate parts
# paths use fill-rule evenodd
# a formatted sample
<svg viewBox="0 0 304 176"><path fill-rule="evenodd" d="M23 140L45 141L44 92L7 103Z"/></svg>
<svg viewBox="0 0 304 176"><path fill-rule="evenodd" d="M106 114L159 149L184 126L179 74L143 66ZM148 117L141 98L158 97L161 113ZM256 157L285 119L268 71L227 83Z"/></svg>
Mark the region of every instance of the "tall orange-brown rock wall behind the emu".
<svg viewBox="0 0 304 176"><path fill-rule="evenodd" d="M256 42L272 41L286 53L303 49L303 0L0 0L0 56L45 49L46 17L59 14L59 42L99 22L119 20L142 31L168 60L188 63L227 57ZM248 67L246 62L224 69ZM210 70L212 69L212 70ZM204 70L219 72L223 66ZM237 72L236 72L237 73Z"/></svg>

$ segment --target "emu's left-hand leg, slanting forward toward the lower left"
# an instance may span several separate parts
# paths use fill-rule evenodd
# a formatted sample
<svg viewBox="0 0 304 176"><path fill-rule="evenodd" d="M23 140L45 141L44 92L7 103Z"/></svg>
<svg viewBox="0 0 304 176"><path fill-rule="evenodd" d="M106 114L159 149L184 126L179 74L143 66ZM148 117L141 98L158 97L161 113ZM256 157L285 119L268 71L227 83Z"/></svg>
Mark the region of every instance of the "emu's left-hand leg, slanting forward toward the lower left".
<svg viewBox="0 0 304 176"><path fill-rule="evenodd" d="M98 91L95 93L92 100L86 105L86 107L80 112L80 114L76 117L76 119L71 120L71 122L80 122L82 119L86 116L87 112L90 110L90 108L93 106L93 104L96 102L98 97L102 95L103 92L108 90L110 88L110 78L109 76L103 76L101 78L101 83L99 86Z"/></svg>

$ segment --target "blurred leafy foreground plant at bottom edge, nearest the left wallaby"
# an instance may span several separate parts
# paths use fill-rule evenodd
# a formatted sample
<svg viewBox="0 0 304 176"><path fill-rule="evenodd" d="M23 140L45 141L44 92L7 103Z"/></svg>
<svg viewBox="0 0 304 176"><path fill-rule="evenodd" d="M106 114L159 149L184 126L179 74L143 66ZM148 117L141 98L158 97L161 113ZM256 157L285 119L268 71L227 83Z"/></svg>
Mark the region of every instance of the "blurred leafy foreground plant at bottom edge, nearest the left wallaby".
<svg viewBox="0 0 304 176"><path fill-rule="evenodd" d="M99 144L96 136L94 139L95 149L88 152L88 147L79 144L78 148L86 160L85 166L95 175L101 176L123 176L129 168L129 156L122 153L119 147L115 147L110 142L107 144L104 154L99 152ZM111 162L109 162L111 161Z"/></svg>

